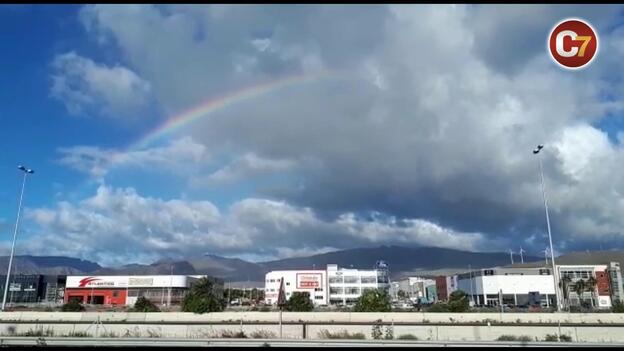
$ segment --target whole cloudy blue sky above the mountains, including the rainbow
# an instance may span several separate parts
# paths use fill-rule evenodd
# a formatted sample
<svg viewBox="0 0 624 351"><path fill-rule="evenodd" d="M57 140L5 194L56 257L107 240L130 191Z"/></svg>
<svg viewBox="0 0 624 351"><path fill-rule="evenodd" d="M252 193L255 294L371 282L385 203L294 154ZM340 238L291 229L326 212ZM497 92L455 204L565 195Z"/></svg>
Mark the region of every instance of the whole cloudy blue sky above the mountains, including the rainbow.
<svg viewBox="0 0 624 351"><path fill-rule="evenodd" d="M560 20L599 36L565 70ZM624 248L617 5L0 5L0 254Z"/></svg>

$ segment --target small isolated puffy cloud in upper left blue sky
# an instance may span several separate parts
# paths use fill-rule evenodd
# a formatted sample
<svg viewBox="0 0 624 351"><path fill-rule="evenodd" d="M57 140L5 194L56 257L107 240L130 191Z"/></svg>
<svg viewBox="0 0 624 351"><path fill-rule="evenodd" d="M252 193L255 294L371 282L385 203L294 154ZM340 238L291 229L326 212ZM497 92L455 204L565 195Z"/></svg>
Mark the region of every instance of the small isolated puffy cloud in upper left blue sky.
<svg viewBox="0 0 624 351"><path fill-rule="evenodd" d="M149 102L149 82L126 67L98 64L71 51L57 55L52 68L51 96L71 114L137 118Z"/></svg>

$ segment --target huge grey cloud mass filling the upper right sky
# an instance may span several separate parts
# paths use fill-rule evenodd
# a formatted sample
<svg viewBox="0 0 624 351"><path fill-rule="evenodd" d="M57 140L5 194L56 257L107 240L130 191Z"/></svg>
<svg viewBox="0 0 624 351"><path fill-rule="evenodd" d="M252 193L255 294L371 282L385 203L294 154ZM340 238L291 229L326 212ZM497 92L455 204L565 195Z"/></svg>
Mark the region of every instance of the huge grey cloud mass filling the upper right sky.
<svg viewBox="0 0 624 351"><path fill-rule="evenodd" d="M408 232L392 229L398 238L426 242L417 234L425 229L414 229L421 227L446 235L428 226L436 223L462 233L452 237L458 242L470 233L488 243L532 237L542 249L543 202L531 150L543 143L555 243L574 249L599 241L621 247L624 235L617 177L623 151L596 127L622 111L621 12L543 5L86 6L80 16L89 33L106 38L103 49L115 46L174 112L293 74L341 73L237 101L179 131L211 152L230 153L235 161L213 173L216 179L251 174L245 155L295 160L296 167L277 171L294 172L301 182L257 194L285 201L260 206L262 215L292 206L311 214L297 210L289 220L309 223L377 211L396 223L425 221L410 222ZM552 25L571 15L590 20L601 38L599 56L575 72L561 70L545 48ZM257 206L240 202L230 211ZM380 230L366 234L370 227L355 226L368 240ZM332 237L319 237L325 242L316 247L333 246Z"/></svg>

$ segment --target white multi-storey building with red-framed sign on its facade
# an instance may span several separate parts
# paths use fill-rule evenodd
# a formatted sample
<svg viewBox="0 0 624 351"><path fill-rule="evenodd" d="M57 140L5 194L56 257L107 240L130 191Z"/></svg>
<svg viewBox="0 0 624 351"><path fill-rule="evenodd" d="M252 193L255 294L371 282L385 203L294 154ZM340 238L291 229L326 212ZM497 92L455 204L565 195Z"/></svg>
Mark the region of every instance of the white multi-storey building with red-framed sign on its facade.
<svg viewBox="0 0 624 351"><path fill-rule="evenodd" d="M315 305L349 305L367 290L390 288L387 265L378 262L375 269L361 270L327 265L324 270L272 271L265 276L265 303L275 304L281 279L286 299L293 292L308 292Z"/></svg>

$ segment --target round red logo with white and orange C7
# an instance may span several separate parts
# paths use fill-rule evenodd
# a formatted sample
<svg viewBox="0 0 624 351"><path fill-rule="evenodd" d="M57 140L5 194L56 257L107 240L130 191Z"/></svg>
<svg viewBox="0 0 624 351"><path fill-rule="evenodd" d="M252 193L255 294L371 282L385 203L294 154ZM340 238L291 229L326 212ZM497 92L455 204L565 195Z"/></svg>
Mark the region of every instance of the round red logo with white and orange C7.
<svg viewBox="0 0 624 351"><path fill-rule="evenodd" d="M550 32L548 49L555 62L564 68L579 69L596 56L598 34L581 19L566 19Z"/></svg>

